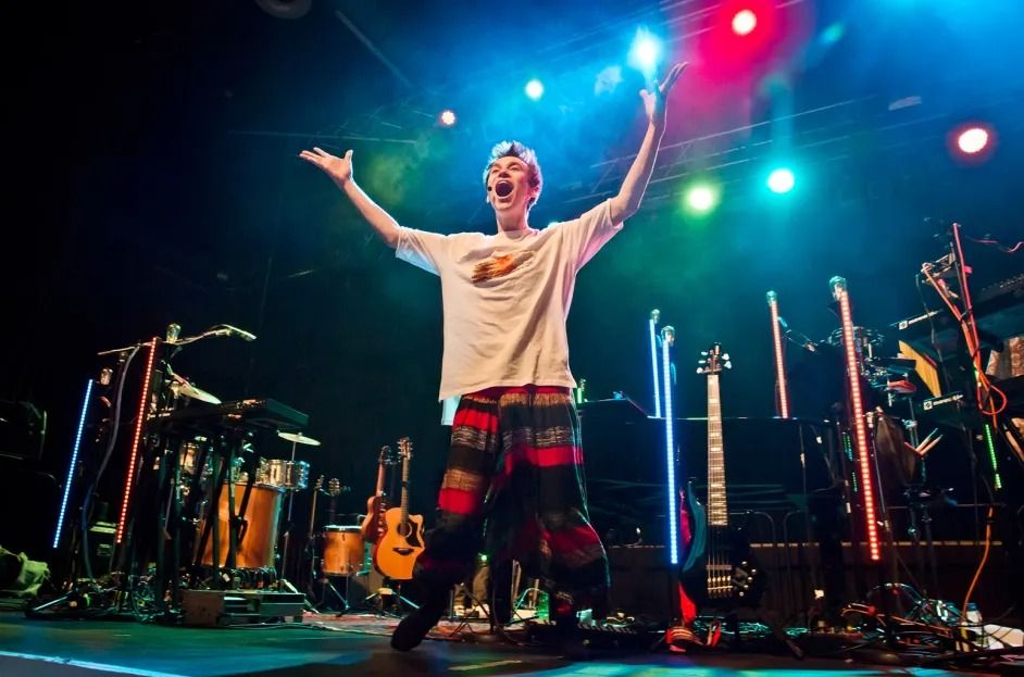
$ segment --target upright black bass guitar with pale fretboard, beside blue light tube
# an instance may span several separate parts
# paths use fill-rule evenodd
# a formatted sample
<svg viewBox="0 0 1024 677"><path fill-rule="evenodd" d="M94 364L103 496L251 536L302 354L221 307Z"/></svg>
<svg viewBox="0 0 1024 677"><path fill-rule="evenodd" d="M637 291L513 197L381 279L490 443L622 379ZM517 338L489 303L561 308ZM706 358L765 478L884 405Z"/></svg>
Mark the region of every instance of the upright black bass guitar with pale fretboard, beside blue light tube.
<svg viewBox="0 0 1024 677"><path fill-rule="evenodd" d="M698 609L729 611L755 609L764 593L764 574L754 561L744 530L729 525L725 492L725 455L722 440L722 402L719 375L733 367L727 353L714 343L701 353L698 374L708 377L708 507L687 487L687 509L692 522L686 561L679 582Z"/></svg>

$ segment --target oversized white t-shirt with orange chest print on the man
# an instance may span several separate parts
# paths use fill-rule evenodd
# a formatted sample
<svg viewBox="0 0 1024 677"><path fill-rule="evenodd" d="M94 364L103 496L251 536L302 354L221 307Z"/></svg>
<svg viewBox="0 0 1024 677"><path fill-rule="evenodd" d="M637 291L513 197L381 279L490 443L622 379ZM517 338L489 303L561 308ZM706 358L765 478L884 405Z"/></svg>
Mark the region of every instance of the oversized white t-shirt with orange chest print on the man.
<svg viewBox="0 0 1024 677"><path fill-rule="evenodd" d="M395 255L441 278L439 399L497 386L575 388L565 319L576 273L621 229L607 200L542 230L401 228Z"/></svg>

